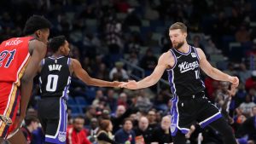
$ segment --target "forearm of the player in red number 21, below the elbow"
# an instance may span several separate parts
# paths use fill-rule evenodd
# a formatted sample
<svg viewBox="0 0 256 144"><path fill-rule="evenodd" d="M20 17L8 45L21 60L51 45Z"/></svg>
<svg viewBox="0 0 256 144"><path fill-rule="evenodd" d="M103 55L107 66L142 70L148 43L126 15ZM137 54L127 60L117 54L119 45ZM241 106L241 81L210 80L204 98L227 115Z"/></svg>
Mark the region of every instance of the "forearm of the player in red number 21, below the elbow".
<svg viewBox="0 0 256 144"><path fill-rule="evenodd" d="M20 116L26 116L26 107L32 94L33 79L21 79L20 84Z"/></svg>

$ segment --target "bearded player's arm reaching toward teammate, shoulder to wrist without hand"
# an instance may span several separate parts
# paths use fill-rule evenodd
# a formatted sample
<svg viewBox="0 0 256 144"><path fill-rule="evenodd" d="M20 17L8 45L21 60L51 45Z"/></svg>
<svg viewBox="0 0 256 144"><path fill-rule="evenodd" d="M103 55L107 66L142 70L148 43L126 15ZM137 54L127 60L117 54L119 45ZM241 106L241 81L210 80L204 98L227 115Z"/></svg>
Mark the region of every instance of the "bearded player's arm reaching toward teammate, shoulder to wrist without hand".
<svg viewBox="0 0 256 144"><path fill-rule="evenodd" d="M148 88L154 84L156 84L160 78L162 77L163 73L165 72L166 68L168 68L168 63L172 62L171 53L168 51L164 53L163 55L160 55L160 58L158 60L157 66L154 68L154 72L151 73L146 78L143 78L142 80L137 82L137 88L135 89L143 89ZM174 61L174 59L173 59Z"/></svg>

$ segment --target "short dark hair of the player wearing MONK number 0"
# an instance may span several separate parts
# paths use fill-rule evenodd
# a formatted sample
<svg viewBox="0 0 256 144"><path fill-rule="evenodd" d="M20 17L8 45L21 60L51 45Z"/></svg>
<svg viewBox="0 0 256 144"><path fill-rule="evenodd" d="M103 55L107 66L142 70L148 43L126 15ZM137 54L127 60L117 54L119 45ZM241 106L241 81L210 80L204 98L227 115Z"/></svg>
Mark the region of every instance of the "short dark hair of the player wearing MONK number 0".
<svg viewBox="0 0 256 144"><path fill-rule="evenodd" d="M52 51L55 53L62 45L65 44L65 41L66 37L63 35L53 37L49 40L48 47L49 49L52 49Z"/></svg>

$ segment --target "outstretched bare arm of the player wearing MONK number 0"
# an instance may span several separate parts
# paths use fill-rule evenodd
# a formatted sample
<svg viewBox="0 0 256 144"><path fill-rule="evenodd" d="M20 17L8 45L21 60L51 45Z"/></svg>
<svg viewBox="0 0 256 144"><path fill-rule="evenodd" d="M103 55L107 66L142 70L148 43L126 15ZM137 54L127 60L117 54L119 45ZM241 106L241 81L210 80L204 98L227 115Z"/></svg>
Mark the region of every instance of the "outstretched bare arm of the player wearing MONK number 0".
<svg viewBox="0 0 256 144"><path fill-rule="evenodd" d="M121 82L108 82L101 79L90 78L89 74L84 71L79 60L72 59L72 68L74 74L81 79L85 84L99 86L99 87L118 87Z"/></svg>

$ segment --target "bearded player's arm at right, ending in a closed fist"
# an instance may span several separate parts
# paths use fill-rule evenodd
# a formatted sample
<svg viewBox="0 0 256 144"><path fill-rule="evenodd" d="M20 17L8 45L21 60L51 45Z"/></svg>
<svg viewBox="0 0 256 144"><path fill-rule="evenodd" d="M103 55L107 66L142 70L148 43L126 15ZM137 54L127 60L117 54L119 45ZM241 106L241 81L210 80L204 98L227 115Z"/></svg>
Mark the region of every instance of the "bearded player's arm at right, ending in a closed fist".
<svg viewBox="0 0 256 144"><path fill-rule="evenodd" d="M201 69L207 73L207 75L213 79L219 81L227 81L233 84L234 87L237 87L239 84L239 79L237 77L232 77L224 72L219 71L217 68L211 66L208 62L206 55L201 49L196 49L200 58Z"/></svg>

